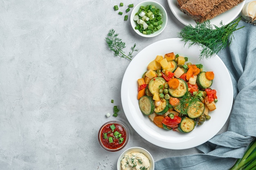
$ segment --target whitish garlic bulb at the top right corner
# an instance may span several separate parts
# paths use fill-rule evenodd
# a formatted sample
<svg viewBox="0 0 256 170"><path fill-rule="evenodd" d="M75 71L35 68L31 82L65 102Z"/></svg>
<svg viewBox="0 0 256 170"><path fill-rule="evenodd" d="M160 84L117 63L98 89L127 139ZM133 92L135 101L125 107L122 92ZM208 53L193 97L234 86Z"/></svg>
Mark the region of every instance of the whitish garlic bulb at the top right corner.
<svg viewBox="0 0 256 170"><path fill-rule="evenodd" d="M247 22L256 24L256 0L247 2L241 11L241 15Z"/></svg>

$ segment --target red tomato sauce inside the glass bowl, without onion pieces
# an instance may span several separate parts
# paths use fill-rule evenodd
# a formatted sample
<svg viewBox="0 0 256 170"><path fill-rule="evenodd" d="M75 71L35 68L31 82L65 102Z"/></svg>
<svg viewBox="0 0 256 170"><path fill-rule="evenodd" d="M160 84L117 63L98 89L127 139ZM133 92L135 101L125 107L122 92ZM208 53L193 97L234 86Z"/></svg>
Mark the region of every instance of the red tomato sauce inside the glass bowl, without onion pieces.
<svg viewBox="0 0 256 170"><path fill-rule="evenodd" d="M113 123L111 123L111 124L106 124L106 125L102 128L102 130L101 130L101 142L102 142L102 144L103 144L106 148L109 148L109 149L113 149L113 150L114 150L114 149L120 148L121 146L123 146L123 145L125 144L125 142L126 142L126 131L125 131L125 129L124 129L123 126L121 126L121 125L119 125L119 124L115 124L115 123L114 123L115 129L112 130L112 129L110 128L110 126L111 126L112 124L113 124ZM120 134L122 134L121 137L124 138L124 141L123 141L121 144L119 144L119 139L116 138L115 135L114 135L114 132L115 132L115 131L118 131ZM104 139L104 135L103 135L104 132L107 133L107 138L106 138L106 139ZM112 143L110 143L110 142L108 141L108 137L112 137L112 138L113 138L113 142L112 142Z"/></svg>

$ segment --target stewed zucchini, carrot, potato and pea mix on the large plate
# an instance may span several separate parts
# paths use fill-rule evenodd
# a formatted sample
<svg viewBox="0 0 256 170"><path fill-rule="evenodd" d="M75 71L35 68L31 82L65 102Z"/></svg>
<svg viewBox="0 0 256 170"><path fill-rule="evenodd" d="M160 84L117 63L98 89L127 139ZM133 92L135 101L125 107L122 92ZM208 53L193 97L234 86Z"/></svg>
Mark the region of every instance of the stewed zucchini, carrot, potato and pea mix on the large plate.
<svg viewBox="0 0 256 170"><path fill-rule="evenodd" d="M188 60L173 52L157 55L138 79L139 108L159 128L188 133L216 109L213 71Z"/></svg>

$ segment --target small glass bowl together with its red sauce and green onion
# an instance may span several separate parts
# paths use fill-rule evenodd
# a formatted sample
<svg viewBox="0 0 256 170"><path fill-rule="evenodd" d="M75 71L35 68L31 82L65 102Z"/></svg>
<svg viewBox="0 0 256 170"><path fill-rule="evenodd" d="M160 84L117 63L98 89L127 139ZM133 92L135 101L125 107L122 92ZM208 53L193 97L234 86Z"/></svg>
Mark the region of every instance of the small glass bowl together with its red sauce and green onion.
<svg viewBox="0 0 256 170"><path fill-rule="evenodd" d="M118 121L108 121L101 126L98 133L99 144L108 151L123 149L128 142L128 130Z"/></svg>

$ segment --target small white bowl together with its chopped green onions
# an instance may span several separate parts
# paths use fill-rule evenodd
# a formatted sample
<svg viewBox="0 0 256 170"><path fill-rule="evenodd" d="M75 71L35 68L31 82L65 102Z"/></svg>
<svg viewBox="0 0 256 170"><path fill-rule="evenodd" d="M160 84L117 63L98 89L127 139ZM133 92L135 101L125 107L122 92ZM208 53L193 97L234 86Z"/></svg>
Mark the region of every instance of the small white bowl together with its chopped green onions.
<svg viewBox="0 0 256 170"><path fill-rule="evenodd" d="M155 37L164 31L167 13L158 2L147 0L137 4L131 13L132 29L142 37Z"/></svg>

